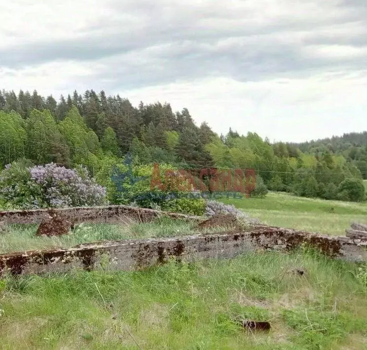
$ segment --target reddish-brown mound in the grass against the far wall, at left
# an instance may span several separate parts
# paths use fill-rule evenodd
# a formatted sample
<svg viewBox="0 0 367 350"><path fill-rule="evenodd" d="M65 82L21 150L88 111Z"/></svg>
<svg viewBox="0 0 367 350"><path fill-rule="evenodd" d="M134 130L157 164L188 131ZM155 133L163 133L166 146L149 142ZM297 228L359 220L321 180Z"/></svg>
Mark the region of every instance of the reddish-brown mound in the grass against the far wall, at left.
<svg viewBox="0 0 367 350"><path fill-rule="evenodd" d="M69 234L73 227L72 220L66 215L49 212L50 216L43 219L38 226L36 236L61 236Z"/></svg>

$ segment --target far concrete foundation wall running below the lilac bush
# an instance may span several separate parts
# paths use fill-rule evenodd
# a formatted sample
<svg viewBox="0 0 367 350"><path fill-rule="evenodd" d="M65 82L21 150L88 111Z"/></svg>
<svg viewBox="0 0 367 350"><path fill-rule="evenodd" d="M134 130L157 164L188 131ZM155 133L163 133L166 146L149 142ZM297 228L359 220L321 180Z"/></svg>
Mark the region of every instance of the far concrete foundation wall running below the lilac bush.
<svg viewBox="0 0 367 350"><path fill-rule="evenodd" d="M30 224L40 223L43 219L52 215L63 215L69 217L73 223L93 222L93 223L119 223L121 218L128 217L142 222L150 221L161 216L172 219L202 219L198 216L185 215L180 213L164 212L153 209L135 208L125 205L110 205L104 207L73 207L73 208L49 208L33 210L13 210L0 211L0 221L7 224Z"/></svg>

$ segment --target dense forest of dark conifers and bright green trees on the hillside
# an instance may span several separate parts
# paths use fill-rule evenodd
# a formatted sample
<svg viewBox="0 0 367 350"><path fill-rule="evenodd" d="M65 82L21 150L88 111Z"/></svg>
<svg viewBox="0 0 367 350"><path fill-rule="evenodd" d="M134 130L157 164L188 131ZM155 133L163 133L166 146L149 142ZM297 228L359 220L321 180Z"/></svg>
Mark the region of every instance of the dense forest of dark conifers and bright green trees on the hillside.
<svg viewBox="0 0 367 350"><path fill-rule="evenodd" d="M210 122L210 121L209 121ZM169 103L133 106L104 91L74 91L57 101L35 90L0 91L0 166L18 159L67 168L85 165L100 183L130 152L136 165L176 169L255 169L270 190L360 201L367 178L367 132L301 144L270 143L257 133L226 135ZM105 184L105 183L103 183Z"/></svg>

